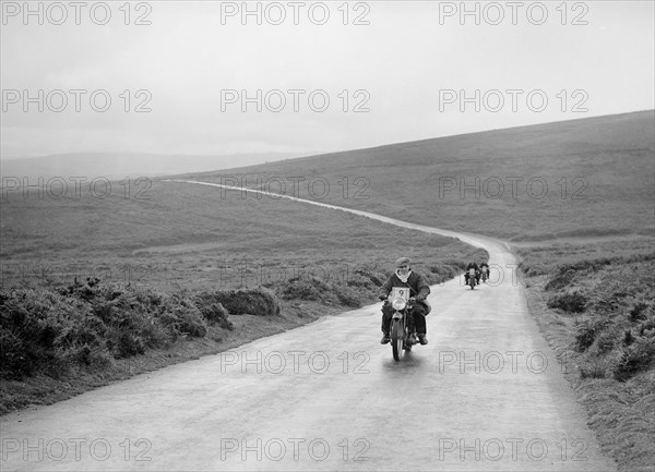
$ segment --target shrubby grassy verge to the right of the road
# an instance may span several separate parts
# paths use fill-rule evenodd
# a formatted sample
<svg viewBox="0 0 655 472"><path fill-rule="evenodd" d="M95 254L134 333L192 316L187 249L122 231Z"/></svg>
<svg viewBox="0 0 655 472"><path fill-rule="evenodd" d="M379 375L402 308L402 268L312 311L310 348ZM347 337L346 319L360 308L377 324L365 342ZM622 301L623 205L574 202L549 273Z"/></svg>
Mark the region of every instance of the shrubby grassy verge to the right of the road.
<svg viewBox="0 0 655 472"><path fill-rule="evenodd" d="M655 240L525 245L531 312L621 471L655 470Z"/></svg>

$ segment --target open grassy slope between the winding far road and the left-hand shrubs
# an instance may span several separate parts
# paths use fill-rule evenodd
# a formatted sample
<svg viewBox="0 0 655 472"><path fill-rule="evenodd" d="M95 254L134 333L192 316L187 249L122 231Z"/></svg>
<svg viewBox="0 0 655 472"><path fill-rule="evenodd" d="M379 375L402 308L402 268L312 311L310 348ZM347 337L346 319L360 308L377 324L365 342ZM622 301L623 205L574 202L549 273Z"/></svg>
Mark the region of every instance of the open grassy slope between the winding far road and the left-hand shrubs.
<svg viewBox="0 0 655 472"><path fill-rule="evenodd" d="M402 254L428 270L471 251L456 240L289 201L157 181L138 199L117 187L106 198L8 194L0 208L3 283L71 283L79 275L230 289L298 274L344 279L370 264L386 269Z"/></svg>

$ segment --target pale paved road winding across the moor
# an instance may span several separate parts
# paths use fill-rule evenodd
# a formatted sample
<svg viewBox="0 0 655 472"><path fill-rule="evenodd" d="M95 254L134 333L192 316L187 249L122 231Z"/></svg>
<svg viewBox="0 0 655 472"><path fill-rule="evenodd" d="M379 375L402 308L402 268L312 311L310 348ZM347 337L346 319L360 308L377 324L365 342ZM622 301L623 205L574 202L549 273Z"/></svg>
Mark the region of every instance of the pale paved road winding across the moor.
<svg viewBox="0 0 655 472"><path fill-rule="evenodd" d="M503 270L474 291L432 287L430 343L400 363L379 344L380 305L366 306L4 416L0 469L616 470L507 245L402 225L485 247Z"/></svg>

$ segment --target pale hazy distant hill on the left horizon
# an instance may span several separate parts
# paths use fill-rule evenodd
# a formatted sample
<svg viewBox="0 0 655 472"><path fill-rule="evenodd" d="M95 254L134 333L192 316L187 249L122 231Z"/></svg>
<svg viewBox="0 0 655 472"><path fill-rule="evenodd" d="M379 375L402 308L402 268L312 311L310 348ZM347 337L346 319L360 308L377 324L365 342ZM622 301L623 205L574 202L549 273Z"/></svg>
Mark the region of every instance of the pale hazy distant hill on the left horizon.
<svg viewBox="0 0 655 472"><path fill-rule="evenodd" d="M58 154L23 159L2 159L0 174L3 177L126 177L169 176L180 172L202 172L207 170L251 166L266 161L298 157L298 154L259 153L227 156L183 156L145 153L79 153Z"/></svg>

